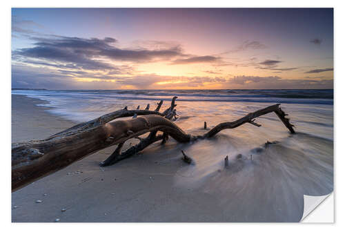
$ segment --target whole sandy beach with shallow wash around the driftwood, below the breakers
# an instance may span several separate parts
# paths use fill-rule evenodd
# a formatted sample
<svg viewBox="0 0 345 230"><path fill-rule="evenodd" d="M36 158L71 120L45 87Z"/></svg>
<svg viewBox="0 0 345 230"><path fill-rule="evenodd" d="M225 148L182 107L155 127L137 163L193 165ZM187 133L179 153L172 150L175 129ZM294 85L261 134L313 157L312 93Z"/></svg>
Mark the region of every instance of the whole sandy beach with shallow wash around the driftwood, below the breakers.
<svg viewBox="0 0 345 230"><path fill-rule="evenodd" d="M66 112L67 105L61 102L72 103L70 99L58 102L57 108L37 106L46 102L12 95L12 142L39 140L76 124L55 115ZM103 108L90 101L83 113L72 110L71 117L97 117L126 104L133 108L146 103L110 99ZM204 120L212 127L268 105L210 103L177 102L176 124L188 133L201 134ZM74 105L78 103L71 108ZM217 110L209 111L213 119L199 115L215 106ZM283 108L293 114L295 135L270 114L260 117L262 128L244 125L188 144L170 138L163 146L157 142L112 166L100 167L99 162L115 146L103 149L13 192L12 222L298 222L304 195L333 191L332 110L312 104ZM265 147L267 140L276 144ZM124 150L136 141L126 142ZM195 164L183 162L181 150Z"/></svg>

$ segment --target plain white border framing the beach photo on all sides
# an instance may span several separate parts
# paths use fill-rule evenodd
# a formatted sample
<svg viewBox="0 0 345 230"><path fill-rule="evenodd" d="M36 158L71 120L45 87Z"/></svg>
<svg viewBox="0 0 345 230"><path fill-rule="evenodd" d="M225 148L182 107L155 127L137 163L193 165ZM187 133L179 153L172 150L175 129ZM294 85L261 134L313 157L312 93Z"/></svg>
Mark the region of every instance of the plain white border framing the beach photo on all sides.
<svg viewBox="0 0 345 230"><path fill-rule="evenodd" d="M11 194L10 194L10 42L11 42L11 28L10 28L10 14L11 14L11 7L334 7L335 10L335 200L337 205L335 208L335 222L336 224L294 224L294 226L289 226L290 224L279 224L279 229L290 229L290 227L294 228L309 228L312 227L313 229L324 229L325 227L342 227L344 229L344 215L342 210L344 207L342 205L345 204L344 202L344 183L341 183L340 180L344 180L342 178L342 174L344 173L344 145L342 145L342 140L345 137L345 126L344 126L344 115L345 110L344 106L342 105L345 99L345 88L344 88L344 22L345 21L345 10L344 10L344 1L300 1L300 0L290 0L290 1L153 1L153 0L146 0L146 1L67 1L67 0L59 0L59 1L43 1L43 0L29 0L29 1L4 1L1 3L1 182L3 186L1 186L1 225L6 229L8 227L17 229L17 228L28 228L34 227L34 229L46 229L48 227L47 224L12 224L10 223L11 218L11 211L10 211L10 202L11 202ZM338 167L339 166L339 167ZM338 178L341 178L338 180ZM339 194L339 195L337 195ZM329 207L327 208L329 211ZM339 215L337 215L340 213ZM337 218L339 217L339 218ZM59 223L63 224L63 223ZM93 224L63 224L63 226L59 226L58 224L50 224L49 228L51 229L63 229L66 228L76 228L82 227L83 229L95 229L95 225L99 225L96 223ZM198 229L209 229L212 225L217 226L217 229L228 229L228 224L100 224L102 228L113 228L113 227L120 227L123 229L124 227L129 227L133 229L175 229L180 227L197 227ZM236 224L237 225L237 224ZM255 229L277 229L276 224L240 224L243 227L250 227ZM239 227L239 226L236 226Z"/></svg>

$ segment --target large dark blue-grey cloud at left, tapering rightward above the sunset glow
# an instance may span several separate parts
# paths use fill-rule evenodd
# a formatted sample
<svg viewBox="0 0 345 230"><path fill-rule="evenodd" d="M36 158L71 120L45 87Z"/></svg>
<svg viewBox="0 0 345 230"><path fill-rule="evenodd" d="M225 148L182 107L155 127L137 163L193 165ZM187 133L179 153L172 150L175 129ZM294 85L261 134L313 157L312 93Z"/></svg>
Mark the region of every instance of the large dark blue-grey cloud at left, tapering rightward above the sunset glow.
<svg viewBox="0 0 345 230"><path fill-rule="evenodd" d="M12 52L14 60L26 62L39 60L47 62L47 65L58 63L60 66L84 70L110 70L113 68L111 61L143 63L186 57L179 46L155 50L117 48L113 45L117 40L112 37L83 39L49 36L31 37L31 39L35 41L34 47L14 50Z"/></svg>

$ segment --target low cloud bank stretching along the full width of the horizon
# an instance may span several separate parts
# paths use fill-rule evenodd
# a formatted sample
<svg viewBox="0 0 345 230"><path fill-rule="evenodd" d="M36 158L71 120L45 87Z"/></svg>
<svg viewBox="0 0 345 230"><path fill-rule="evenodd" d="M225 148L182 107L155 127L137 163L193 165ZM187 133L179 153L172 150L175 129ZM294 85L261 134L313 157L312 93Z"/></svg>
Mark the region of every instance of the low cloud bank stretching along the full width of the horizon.
<svg viewBox="0 0 345 230"><path fill-rule="evenodd" d="M333 88L333 79L283 79L279 76L187 77L109 75L12 65L13 88L48 89L171 89L171 88Z"/></svg>

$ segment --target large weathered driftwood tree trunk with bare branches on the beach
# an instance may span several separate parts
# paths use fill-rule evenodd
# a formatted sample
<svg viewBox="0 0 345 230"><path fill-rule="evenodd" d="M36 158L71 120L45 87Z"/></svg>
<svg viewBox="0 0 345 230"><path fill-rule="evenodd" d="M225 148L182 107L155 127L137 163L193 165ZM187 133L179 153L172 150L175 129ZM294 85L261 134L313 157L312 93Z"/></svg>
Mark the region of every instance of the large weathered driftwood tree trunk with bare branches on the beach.
<svg viewBox="0 0 345 230"><path fill-rule="evenodd" d="M246 123L260 126L254 122L255 117L267 113L274 112L290 133L295 133L293 125L286 118L284 111L279 108L279 104L275 104L249 113L233 122L218 124L204 135L191 135L185 133L172 122L173 118L177 118L176 99L177 97L172 98L170 107L164 113L159 113L163 101L157 104L155 111L150 111L149 105L146 106L145 110L139 110L138 106L136 110L132 111L128 110L126 106L122 110L68 128L46 140L12 144L12 191L109 146L117 145L117 148L107 160L101 162L101 166L124 160L159 140L164 144L168 140L168 136L177 142L187 143L213 137L226 128L236 128ZM119 117L135 118L111 122ZM163 134L157 135L158 131L163 132ZM145 133L149 133L146 138L139 137ZM121 152L124 142L132 138L139 139L139 144Z"/></svg>

